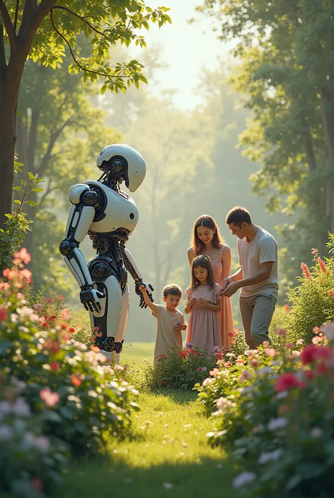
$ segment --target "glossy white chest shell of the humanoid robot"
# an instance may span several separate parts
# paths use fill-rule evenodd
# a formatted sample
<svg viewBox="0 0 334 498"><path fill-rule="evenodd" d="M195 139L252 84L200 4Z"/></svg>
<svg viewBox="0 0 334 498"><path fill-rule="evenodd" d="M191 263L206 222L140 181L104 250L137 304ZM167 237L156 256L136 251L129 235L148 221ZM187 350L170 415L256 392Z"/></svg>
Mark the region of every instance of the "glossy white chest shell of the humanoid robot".
<svg viewBox="0 0 334 498"><path fill-rule="evenodd" d="M110 233L124 228L132 233L138 223L138 209L134 200L124 192L115 192L105 186L103 190L107 196L105 216L93 222L90 229L97 233Z"/></svg>

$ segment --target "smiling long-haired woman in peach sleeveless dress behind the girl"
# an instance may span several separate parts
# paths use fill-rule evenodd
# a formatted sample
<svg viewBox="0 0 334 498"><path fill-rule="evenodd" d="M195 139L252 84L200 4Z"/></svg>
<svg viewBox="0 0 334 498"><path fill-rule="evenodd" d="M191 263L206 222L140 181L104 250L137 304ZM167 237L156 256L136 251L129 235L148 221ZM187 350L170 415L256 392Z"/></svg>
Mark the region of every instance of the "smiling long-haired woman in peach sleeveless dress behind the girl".
<svg viewBox="0 0 334 498"><path fill-rule="evenodd" d="M188 249L188 259L191 265L194 257L206 254L210 257L214 281L224 285L224 278L230 276L231 249L224 244L215 220L208 215L200 216L194 224L191 248ZM221 344L229 347L232 343L234 331L231 300L223 297L221 311L218 316L221 330Z"/></svg>

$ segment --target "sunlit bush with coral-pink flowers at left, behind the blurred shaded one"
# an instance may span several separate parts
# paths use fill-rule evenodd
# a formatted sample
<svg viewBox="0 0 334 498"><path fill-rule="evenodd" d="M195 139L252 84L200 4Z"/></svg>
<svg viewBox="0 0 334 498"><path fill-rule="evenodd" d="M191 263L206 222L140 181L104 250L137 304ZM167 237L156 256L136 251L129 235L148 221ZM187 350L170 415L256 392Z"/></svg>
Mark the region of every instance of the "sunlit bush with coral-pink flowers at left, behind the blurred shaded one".
<svg viewBox="0 0 334 498"><path fill-rule="evenodd" d="M44 435L68 443L74 455L98 451L105 436L122 435L129 428L137 391L103 366L98 348L87 351L82 343L71 342L65 321L38 330L38 316L21 293L30 272L15 267L4 274L9 281L1 284L0 294L2 367L26 382L22 396L33 415L43 411Z"/></svg>

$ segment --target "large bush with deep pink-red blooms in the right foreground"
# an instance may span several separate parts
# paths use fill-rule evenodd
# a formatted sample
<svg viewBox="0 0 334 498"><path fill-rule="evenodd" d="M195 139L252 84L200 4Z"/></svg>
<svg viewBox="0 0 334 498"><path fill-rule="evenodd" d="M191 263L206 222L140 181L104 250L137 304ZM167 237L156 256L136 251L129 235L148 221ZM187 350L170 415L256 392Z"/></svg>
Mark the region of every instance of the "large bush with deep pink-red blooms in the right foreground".
<svg viewBox="0 0 334 498"><path fill-rule="evenodd" d="M316 337L318 346L297 353L290 345L278 354L260 348L230 388L225 382L208 437L238 459L244 472L234 487L242 496L333 497L334 324ZM268 365L259 369L261 358Z"/></svg>

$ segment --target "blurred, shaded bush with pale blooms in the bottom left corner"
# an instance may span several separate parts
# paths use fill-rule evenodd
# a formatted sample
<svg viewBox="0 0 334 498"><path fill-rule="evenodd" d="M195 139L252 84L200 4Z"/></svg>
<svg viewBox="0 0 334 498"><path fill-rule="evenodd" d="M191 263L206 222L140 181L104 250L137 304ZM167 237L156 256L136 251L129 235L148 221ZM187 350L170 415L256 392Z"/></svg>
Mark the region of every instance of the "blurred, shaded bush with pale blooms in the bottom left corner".
<svg viewBox="0 0 334 498"><path fill-rule="evenodd" d="M26 385L0 374L1 497L41 498L61 482L68 462L66 445L41 431L43 409L33 415L22 397ZM47 408L45 408L47 410Z"/></svg>

